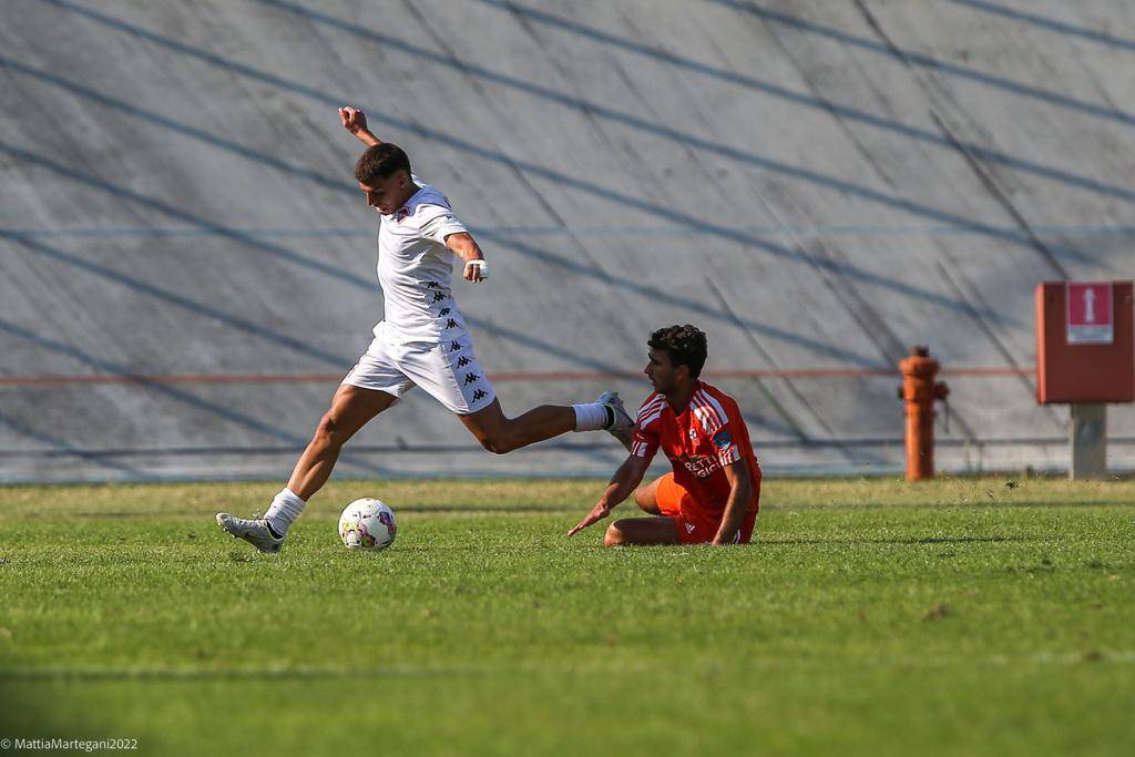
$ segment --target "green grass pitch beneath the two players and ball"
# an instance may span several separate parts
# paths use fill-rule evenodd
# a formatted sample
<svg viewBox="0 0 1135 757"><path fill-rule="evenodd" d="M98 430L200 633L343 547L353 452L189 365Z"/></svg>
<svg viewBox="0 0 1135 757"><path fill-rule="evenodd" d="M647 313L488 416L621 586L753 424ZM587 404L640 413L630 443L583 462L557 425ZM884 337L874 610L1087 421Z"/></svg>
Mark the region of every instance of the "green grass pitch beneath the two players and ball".
<svg viewBox="0 0 1135 757"><path fill-rule="evenodd" d="M0 489L0 737L142 754L1128 755L1135 482L766 481L749 547L563 532L597 481ZM358 496L395 545L348 553ZM622 514L632 514L624 505ZM136 754L136 752L135 752Z"/></svg>

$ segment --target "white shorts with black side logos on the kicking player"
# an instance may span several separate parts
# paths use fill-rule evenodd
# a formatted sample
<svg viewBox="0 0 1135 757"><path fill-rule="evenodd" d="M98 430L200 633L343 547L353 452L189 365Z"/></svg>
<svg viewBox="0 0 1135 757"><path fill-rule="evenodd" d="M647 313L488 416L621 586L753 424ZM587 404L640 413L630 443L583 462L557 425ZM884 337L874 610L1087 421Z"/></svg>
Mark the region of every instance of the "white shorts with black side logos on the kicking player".
<svg viewBox="0 0 1135 757"><path fill-rule="evenodd" d="M473 354L473 339L463 329L447 331L445 340L436 344L396 344L376 336L343 384L386 392L395 401L420 386L459 415L476 413L496 399Z"/></svg>

